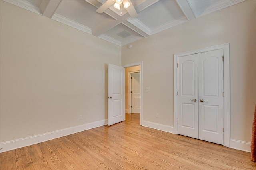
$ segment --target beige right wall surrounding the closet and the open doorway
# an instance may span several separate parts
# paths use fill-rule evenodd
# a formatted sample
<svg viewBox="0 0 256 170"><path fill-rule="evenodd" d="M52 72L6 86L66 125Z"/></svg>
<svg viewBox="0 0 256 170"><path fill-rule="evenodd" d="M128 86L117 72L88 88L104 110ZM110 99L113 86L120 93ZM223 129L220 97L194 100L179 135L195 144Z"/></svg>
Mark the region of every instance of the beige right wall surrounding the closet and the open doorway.
<svg viewBox="0 0 256 170"><path fill-rule="evenodd" d="M131 49L122 47L122 65L143 61L144 121L174 126L174 54L230 43L230 137L250 142L256 103L255 7L256 1L248 0L134 42Z"/></svg>

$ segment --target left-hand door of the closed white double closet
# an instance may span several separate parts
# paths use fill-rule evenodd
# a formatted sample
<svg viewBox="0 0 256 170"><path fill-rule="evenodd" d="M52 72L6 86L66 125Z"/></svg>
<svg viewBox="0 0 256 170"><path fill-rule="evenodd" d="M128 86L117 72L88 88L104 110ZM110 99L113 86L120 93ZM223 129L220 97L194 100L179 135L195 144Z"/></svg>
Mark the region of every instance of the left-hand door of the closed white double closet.
<svg viewBox="0 0 256 170"><path fill-rule="evenodd" d="M198 55L178 58L178 133L198 138Z"/></svg>

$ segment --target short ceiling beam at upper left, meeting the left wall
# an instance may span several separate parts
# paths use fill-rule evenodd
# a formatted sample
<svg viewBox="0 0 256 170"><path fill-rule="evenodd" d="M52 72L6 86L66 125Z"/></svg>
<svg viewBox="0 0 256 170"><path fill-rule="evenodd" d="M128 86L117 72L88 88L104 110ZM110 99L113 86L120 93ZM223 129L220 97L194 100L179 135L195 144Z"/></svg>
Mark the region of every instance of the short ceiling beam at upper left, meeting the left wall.
<svg viewBox="0 0 256 170"><path fill-rule="evenodd" d="M42 0L40 4L42 15L52 18L61 1L62 0Z"/></svg>

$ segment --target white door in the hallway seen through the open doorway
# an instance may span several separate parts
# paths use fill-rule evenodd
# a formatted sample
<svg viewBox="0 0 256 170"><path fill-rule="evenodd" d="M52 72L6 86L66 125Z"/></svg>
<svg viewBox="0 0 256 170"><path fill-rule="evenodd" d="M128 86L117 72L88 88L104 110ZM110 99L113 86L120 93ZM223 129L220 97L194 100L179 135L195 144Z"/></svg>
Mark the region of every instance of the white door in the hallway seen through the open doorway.
<svg viewBox="0 0 256 170"><path fill-rule="evenodd" d="M132 73L132 113L140 113L140 72Z"/></svg>

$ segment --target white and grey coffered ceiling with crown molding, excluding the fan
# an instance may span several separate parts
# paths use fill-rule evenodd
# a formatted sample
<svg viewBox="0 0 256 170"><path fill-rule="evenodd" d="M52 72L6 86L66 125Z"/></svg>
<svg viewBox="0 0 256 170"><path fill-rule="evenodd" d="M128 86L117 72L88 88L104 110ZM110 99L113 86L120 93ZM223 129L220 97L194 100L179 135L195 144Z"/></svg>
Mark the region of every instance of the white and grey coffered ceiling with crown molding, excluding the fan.
<svg viewBox="0 0 256 170"><path fill-rule="evenodd" d="M123 46L244 0L130 0L136 18L113 6L97 13L106 0L4 1Z"/></svg>

